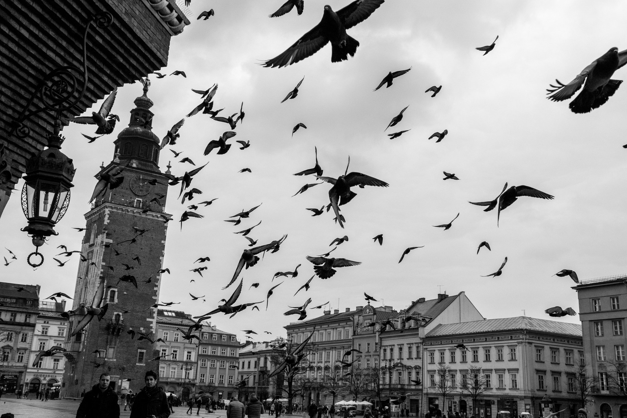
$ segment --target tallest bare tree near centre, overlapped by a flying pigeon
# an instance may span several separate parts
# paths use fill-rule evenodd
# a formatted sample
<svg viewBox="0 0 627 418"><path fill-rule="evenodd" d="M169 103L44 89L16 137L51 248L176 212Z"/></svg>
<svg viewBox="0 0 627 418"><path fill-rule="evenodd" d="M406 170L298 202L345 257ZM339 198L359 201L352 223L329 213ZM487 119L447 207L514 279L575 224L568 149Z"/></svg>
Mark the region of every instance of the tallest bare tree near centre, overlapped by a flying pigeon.
<svg viewBox="0 0 627 418"><path fill-rule="evenodd" d="M292 353L296 347L298 347L298 343L295 343L293 340L285 340L285 338L277 338L274 340L272 345L272 353L270 354L270 363L277 367L280 363L282 363L287 356ZM309 365L308 358L310 352L305 348L302 351L304 357L300 361L300 363L296 365L287 364L287 366L283 369L283 371L273 377L275 379L277 393L275 395L285 395L288 400L287 403L287 414L292 414L292 402L295 397L298 395L303 395L303 388L301 385L294 385L294 380L300 380L305 372L307 372L307 367Z"/></svg>

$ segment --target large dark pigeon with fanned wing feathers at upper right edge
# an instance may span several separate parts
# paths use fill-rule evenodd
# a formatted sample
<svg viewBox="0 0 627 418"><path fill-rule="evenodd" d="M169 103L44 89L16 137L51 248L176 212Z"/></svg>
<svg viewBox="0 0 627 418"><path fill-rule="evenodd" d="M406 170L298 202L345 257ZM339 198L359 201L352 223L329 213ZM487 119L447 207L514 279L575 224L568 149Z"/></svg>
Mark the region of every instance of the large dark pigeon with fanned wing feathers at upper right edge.
<svg viewBox="0 0 627 418"><path fill-rule="evenodd" d="M561 102L571 98L583 85L581 93L568 107L573 113L590 112L607 102L609 97L618 90L623 80L612 80L611 76L614 75L614 71L625 64L627 64L627 50L619 52L618 48L611 48L584 68L570 83L563 84L556 80L557 86L551 85L551 89L547 88L547 94L553 93L547 98L554 102Z"/></svg>

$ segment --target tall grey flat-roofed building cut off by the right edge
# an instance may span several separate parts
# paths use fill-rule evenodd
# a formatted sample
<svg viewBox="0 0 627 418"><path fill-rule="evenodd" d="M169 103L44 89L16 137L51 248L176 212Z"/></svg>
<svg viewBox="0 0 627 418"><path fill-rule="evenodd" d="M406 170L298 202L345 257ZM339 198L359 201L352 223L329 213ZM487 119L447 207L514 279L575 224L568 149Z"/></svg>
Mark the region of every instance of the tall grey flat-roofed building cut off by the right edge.
<svg viewBox="0 0 627 418"><path fill-rule="evenodd" d="M574 286L587 375L594 379L594 417L627 418L627 276L583 280Z"/></svg>

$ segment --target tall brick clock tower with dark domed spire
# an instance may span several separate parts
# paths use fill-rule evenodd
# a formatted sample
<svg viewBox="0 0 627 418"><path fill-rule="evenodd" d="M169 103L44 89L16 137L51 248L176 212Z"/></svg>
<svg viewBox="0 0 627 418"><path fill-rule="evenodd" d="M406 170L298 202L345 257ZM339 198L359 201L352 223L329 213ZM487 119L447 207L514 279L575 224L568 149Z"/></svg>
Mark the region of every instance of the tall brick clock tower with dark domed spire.
<svg viewBox="0 0 627 418"><path fill-rule="evenodd" d="M91 390L102 372L111 375L119 394L129 389L137 393L144 387L145 372L159 370L159 360L154 360L159 353L150 341L157 338L157 310L150 306L159 300L158 271L171 216L164 212L168 180L159 170L160 140L152 132L149 85L146 79L144 94L135 99L130 112L129 126L115 140L112 162L101 166L100 173L123 166L117 177L124 180L115 189L107 187L85 214L87 229L81 249L87 261L78 266L72 310L92 305L102 282L105 294L100 306L107 303L108 309L102 320L93 318L83 332L67 337L68 362L61 388L67 397ZM129 276L135 278L137 288ZM81 317L71 315L70 328ZM134 338L130 331L135 332ZM150 340L139 340L142 333Z"/></svg>

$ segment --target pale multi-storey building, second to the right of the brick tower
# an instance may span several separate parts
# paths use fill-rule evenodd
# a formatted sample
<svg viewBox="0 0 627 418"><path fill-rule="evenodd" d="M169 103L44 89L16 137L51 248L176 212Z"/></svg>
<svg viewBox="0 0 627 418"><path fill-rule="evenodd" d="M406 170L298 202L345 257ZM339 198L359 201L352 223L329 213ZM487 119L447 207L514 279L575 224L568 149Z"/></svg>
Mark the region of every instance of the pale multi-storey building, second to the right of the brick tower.
<svg viewBox="0 0 627 418"><path fill-rule="evenodd" d="M213 392L214 399L230 399L238 377L240 342L236 335L203 325L198 355L198 389Z"/></svg>

